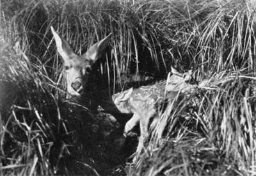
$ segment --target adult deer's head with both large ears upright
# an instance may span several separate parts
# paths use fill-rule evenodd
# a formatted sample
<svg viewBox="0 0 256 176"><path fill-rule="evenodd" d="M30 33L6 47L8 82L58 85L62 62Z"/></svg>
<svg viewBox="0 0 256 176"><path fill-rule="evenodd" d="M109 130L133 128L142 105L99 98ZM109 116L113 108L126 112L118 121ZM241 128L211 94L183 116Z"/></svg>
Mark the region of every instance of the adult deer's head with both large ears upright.
<svg viewBox="0 0 256 176"><path fill-rule="evenodd" d="M83 55L79 56L72 51L70 45L56 33L52 26L51 31L57 45L57 51L64 61L67 98L72 96L81 97L84 86L88 83L92 65L102 56L112 34L110 33L104 39L92 45Z"/></svg>

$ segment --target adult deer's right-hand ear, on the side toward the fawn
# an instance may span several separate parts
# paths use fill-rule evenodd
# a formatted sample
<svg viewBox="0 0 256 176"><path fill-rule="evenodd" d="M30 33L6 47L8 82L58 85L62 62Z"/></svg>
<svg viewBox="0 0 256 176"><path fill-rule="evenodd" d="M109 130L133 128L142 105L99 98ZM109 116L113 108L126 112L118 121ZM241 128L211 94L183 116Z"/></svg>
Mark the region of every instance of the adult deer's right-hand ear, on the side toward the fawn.
<svg viewBox="0 0 256 176"><path fill-rule="evenodd" d="M90 47L90 49L88 49L88 51L83 54L83 57L87 60L92 60L93 63L97 61L97 59L102 56L104 49L107 47L108 42L111 39L111 35L112 33L110 33L96 44L92 45L92 47Z"/></svg>

